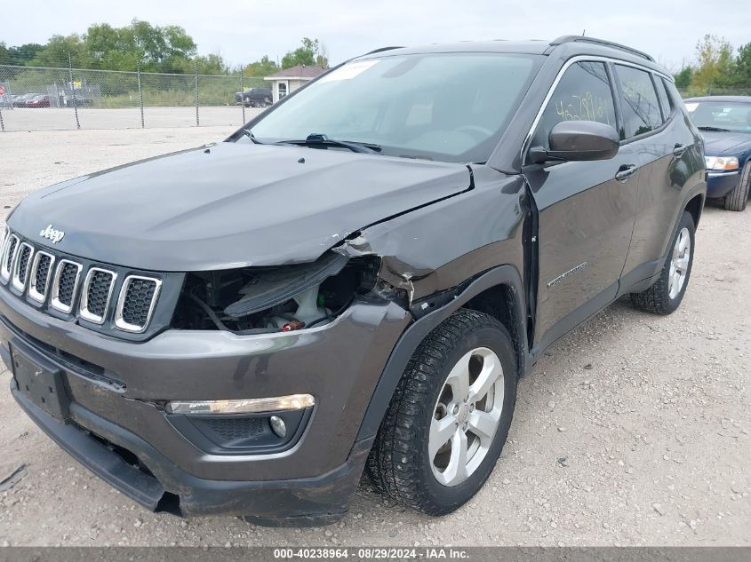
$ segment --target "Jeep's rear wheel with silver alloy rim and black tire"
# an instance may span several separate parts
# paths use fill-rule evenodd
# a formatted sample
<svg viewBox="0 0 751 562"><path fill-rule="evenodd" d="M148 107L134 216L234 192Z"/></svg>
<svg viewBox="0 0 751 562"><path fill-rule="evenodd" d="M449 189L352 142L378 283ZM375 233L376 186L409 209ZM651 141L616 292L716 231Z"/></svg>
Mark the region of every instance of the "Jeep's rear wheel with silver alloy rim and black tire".
<svg viewBox="0 0 751 562"><path fill-rule="evenodd" d="M629 295L635 308L653 314L669 314L678 308L691 278L695 230L691 213L684 210L657 281Z"/></svg>

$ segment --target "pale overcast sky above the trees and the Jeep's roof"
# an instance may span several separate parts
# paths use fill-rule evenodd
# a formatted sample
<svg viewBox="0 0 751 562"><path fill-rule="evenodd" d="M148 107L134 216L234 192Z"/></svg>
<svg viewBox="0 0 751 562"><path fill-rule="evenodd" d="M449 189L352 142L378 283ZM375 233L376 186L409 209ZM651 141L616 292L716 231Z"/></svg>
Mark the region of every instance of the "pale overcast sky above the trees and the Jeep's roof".
<svg viewBox="0 0 751 562"><path fill-rule="evenodd" d="M84 33L92 23L115 27L133 18L186 28L201 54L220 52L231 65L264 54L281 59L300 38L320 39L332 63L385 45L483 39L553 39L580 34L631 45L671 69L694 58L699 37L751 42L751 4L736 0L491 2L488 0L0 0L0 41L41 43Z"/></svg>

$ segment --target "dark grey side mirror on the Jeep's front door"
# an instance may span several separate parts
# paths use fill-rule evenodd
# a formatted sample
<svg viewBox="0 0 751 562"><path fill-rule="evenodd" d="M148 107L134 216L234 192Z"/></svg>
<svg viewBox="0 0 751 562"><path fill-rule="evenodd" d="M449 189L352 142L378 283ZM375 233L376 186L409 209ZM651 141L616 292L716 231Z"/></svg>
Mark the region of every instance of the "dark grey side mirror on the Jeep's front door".
<svg viewBox="0 0 751 562"><path fill-rule="evenodd" d="M610 125L596 121L563 121L550 131L549 150L542 146L530 151L535 163L551 160L609 160L619 149L619 135Z"/></svg>

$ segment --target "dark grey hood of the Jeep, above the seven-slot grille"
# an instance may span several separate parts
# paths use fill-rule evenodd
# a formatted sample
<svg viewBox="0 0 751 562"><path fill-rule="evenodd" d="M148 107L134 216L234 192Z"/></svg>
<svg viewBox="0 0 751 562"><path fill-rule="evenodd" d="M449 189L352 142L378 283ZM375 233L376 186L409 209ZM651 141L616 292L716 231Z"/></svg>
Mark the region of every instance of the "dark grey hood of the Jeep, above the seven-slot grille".
<svg viewBox="0 0 751 562"><path fill-rule="evenodd" d="M8 224L61 252L138 269L284 265L469 186L462 164L220 143L47 187ZM53 246L41 236L48 225L65 233Z"/></svg>

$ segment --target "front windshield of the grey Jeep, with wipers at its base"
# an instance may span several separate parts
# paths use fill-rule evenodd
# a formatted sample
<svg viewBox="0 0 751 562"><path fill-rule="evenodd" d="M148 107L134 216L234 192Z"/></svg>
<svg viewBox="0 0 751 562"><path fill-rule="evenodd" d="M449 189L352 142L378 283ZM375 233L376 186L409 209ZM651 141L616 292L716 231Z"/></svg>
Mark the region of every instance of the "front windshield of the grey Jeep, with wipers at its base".
<svg viewBox="0 0 751 562"><path fill-rule="evenodd" d="M262 142L321 134L380 154L485 162L540 59L462 52L351 62L261 117L252 134Z"/></svg>

